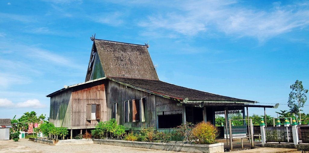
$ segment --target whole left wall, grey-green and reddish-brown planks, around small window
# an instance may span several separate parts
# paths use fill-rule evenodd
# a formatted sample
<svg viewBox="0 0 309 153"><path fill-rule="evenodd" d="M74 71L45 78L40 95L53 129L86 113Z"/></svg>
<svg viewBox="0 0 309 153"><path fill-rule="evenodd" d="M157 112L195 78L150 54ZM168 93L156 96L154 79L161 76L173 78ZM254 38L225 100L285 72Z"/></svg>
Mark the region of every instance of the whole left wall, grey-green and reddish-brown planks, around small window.
<svg viewBox="0 0 309 153"><path fill-rule="evenodd" d="M88 120L87 104L100 104L99 120ZM59 92L50 99L49 121L56 127L69 129L94 128L98 121L107 121L104 81L87 83Z"/></svg>

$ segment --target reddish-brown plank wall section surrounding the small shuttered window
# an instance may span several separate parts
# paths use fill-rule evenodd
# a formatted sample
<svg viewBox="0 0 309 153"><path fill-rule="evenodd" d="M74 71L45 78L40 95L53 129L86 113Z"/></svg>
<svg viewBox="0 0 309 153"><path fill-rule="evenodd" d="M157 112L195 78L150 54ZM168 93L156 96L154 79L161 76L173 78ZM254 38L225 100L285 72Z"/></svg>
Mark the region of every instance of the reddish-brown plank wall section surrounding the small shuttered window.
<svg viewBox="0 0 309 153"><path fill-rule="evenodd" d="M91 128L97 125L98 121L107 121L105 87L104 83L101 83L87 84L86 88L72 92L72 128ZM87 104L100 104L100 120L87 121Z"/></svg>

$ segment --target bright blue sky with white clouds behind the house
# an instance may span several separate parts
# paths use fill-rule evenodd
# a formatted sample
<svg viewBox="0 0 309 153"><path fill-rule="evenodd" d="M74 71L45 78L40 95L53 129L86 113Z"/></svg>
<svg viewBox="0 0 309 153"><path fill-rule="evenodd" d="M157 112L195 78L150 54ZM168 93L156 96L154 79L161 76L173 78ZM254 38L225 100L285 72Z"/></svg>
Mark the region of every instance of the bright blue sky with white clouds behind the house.
<svg viewBox="0 0 309 153"><path fill-rule="evenodd" d="M84 82L94 33L149 41L160 80L280 103L266 108L271 116L289 110L297 79L309 89L309 1L2 0L0 118L33 110L48 117L46 95Z"/></svg>

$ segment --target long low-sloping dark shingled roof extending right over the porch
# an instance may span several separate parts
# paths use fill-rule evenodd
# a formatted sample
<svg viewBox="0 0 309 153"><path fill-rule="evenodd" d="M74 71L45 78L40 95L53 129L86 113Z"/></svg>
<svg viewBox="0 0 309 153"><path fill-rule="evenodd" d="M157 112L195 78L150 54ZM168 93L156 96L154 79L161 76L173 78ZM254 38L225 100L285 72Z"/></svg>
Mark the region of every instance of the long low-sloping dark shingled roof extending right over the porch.
<svg viewBox="0 0 309 153"><path fill-rule="evenodd" d="M175 100L184 101L188 103L248 103L253 104L255 101L243 100L233 97L221 96L209 92L199 91L186 87L177 86L166 83L160 80L145 80L145 79L130 79L130 78L107 78L112 79L118 83L137 88L139 90L152 92L156 95L169 97Z"/></svg>

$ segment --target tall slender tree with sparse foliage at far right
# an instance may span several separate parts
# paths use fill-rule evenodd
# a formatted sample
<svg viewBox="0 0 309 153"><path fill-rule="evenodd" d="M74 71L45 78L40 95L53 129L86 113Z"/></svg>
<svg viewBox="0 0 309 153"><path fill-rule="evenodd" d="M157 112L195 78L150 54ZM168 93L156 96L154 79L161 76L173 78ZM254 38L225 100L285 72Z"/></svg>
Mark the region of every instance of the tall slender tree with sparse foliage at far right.
<svg viewBox="0 0 309 153"><path fill-rule="evenodd" d="M296 80L294 84L290 86L292 91L289 94L288 106L290 108L298 106L298 117L300 117L300 108L304 106L307 101L306 93L308 93L308 89L304 89L302 85L302 81ZM296 117L297 118L297 117Z"/></svg>

